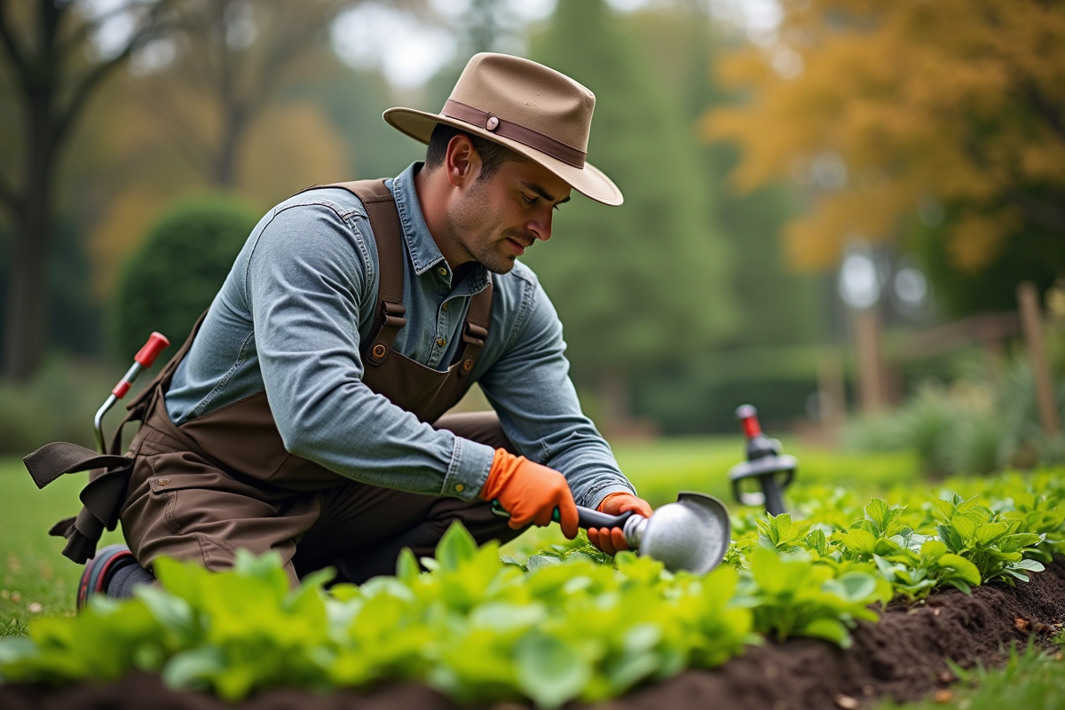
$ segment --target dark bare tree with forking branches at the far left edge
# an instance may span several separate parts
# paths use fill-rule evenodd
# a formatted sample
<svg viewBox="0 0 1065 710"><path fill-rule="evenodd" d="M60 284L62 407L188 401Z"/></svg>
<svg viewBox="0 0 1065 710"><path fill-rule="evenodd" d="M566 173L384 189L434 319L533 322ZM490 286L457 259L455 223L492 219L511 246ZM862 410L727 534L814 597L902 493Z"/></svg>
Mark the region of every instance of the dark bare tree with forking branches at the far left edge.
<svg viewBox="0 0 1065 710"><path fill-rule="evenodd" d="M0 204L11 215L13 244L3 332L3 376L27 380L40 364L49 331L48 266L56 166L75 123L103 81L167 26L170 0L129 0L91 15L85 3L0 0L0 47L21 109L10 129L22 164L0 170ZM125 36L103 51L100 28L121 16Z"/></svg>

